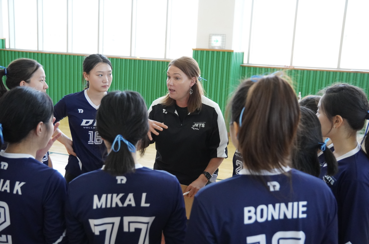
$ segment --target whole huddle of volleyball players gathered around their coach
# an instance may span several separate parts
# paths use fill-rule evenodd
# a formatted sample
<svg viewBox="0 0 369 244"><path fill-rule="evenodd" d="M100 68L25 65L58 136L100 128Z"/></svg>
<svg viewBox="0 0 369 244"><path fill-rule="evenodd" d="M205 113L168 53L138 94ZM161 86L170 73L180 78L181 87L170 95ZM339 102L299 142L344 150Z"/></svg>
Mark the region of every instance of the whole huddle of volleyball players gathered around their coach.
<svg viewBox="0 0 369 244"><path fill-rule="evenodd" d="M299 102L283 72L252 76L224 119L190 57L169 63L168 93L149 108L135 91L108 92L112 72L106 56L87 56L86 89L53 105L36 60L0 70L0 243L369 243L361 88ZM71 139L58 129L66 116ZM228 133L233 177L214 183ZM56 140L64 177L48 153ZM154 142L152 170L137 153Z"/></svg>

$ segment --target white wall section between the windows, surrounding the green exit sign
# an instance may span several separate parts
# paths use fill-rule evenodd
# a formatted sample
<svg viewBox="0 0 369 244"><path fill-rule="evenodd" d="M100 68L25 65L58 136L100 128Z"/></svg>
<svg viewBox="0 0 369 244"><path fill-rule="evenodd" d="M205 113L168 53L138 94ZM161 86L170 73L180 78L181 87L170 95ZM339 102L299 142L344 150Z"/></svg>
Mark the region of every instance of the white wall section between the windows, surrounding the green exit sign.
<svg viewBox="0 0 369 244"><path fill-rule="evenodd" d="M199 0L196 48L209 48L209 34L225 34L225 49L232 49L235 0Z"/></svg>

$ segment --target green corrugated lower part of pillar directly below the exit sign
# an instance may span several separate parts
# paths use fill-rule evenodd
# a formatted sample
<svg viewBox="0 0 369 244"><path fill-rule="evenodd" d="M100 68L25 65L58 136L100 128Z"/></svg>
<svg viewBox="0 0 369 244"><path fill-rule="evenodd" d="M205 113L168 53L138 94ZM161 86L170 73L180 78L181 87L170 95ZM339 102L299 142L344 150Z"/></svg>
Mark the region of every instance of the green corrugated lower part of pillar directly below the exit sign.
<svg viewBox="0 0 369 244"><path fill-rule="evenodd" d="M193 50L199 63L206 95L224 112L229 94L240 77L243 53Z"/></svg>

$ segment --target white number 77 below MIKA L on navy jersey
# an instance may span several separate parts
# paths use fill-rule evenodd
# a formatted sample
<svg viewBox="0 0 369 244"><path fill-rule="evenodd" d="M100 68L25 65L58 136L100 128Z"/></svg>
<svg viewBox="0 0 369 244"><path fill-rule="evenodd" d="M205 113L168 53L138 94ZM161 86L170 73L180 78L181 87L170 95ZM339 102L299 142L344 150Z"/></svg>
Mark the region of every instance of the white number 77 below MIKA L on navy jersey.
<svg viewBox="0 0 369 244"><path fill-rule="evenodd" d="M104 244L114 244L117 237L121 217L110 217L103 219L89 219L91 229L95 235L106 230ZM149 231L155 217L126 216L123 217L123 231L134 232L141 229L138 244L149 244Z"/></svg>

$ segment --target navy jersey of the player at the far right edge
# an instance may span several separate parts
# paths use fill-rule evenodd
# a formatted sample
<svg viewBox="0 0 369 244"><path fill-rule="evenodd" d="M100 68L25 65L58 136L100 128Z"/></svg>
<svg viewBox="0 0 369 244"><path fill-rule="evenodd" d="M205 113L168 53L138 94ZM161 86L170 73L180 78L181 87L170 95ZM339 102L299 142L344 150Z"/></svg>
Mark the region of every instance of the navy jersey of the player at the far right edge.
<svg viewBox="0 0 369 244"><path fill-rule="evenodd" d="M337 199L339 243L369 243L369 159L360 144L337 158L338 173L330 177L327 166L320 178Z"/></svg>

